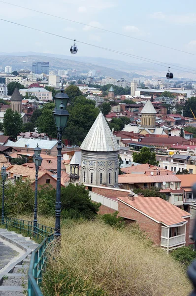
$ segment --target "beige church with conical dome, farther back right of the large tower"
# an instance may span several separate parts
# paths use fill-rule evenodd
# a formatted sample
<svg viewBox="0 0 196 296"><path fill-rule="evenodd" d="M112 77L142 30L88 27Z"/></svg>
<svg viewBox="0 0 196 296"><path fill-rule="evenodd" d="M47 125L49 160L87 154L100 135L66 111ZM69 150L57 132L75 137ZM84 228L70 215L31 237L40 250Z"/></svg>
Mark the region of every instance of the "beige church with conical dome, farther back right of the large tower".
<svg viewBox="0 0 196 296"><path fill-rule="evenodd" d="M162 127L156 127L156 114L157 111L151 101L148 100L141 111L141 124L139 126L128 124L123 130L141 135L166 135Z"/></svg>

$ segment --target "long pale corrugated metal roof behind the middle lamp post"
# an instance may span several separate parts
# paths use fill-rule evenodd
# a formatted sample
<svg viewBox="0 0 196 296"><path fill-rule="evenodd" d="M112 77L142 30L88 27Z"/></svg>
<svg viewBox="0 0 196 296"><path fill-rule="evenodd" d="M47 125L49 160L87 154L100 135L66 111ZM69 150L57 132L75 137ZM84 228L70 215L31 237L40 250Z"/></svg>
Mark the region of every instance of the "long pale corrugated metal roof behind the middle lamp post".
<svg viewBox="0 0 196 296"><path fill-rule="evenodd" d="M58 141L48 141L48 140L32 140L32 139L25 139L21 138L16 143L12 141L7 141L5 146L11 147L21 147L21 148L35 148L37 143L41 149L52 149ZM27 146L26 146L27 145Z"/></svg>

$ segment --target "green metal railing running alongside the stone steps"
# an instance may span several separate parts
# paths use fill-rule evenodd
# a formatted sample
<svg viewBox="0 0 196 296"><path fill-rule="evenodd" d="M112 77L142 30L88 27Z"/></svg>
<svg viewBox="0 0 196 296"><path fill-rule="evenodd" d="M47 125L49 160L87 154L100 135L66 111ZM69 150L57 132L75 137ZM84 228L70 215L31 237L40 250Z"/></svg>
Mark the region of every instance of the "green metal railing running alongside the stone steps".
<svg viewBox="0 0 196 296"><path fill-rule="evenodd" d="M14 228L16 232L41 241L40 245L32 252L30 268L28 271L28 296L43 296L39 288L42 281L42 271L46 263L46 250L54 239L54 228L37 223L33 226L33 221L16 218L4 218L1 222L8 229Z"/></svg>

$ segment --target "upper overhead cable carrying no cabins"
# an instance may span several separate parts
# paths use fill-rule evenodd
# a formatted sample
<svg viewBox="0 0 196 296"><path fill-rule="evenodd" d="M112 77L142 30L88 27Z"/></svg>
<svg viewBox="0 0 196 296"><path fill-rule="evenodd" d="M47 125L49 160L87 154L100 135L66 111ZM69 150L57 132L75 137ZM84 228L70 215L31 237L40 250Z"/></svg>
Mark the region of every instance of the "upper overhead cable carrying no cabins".
<svg viewBox="0 0 196 296"><path fill-rule="evenodd" d="M166 46L166 45L163 45L163 44L159 44L159 43L147 41L147 40L144 40L144 39L132 37L130 35L125 35L125 34L114 32L114 31L110 31L110 30L107 30L107 29L103 29L103 28L98 28L98 27L95 27L95 26L87 25L87 24L84 24L84 23L81 23L81 22L77 22L77 21L73 21L73 20L70 20L70 19L66 19L66 18L61 17L61 16L58 16L58 15L46 13L46 12L43 12L43 11L38 11L38 10L35 10L35 9L32 9L32 8L20 6L20 5L9 3L9 2L6 2L6 1L2 1L2 0L0 0L0 2L5 3L5 4L9 4L9 5L12 5L12 6L16 6L16 7L28 9L28 10L31 10L31 11L34 11L34 12L42 13L42 14L45 14L45 15L53 16L53 17L56 17L56 18L59 18L59 19L62 19L62 20L68 21L68 22L73 22L73 23L76 23L76 24L80 24L80 25L83 25L83 26L88 26L88 27L91 27L91 28L94 28L94 29L98 29L98 30L101 30L101 31L109 32L109 33L120 35L120 36L123 36L123 37L132 38L132 39L135 39L135 40L147 42L147 43L150 43L150 44L153 44L153 45L162 46L164 48L168 48L168 49L172 49L172 50L176 50L176 51L179 51L179 52L183 52L183 53L186 53L186 54L191 54L191 55L196 56L195 53L191 53L191 52L188 52L188 51L185 51L185 50L180 50L180 49L169 47L169 46Z"/></svg>

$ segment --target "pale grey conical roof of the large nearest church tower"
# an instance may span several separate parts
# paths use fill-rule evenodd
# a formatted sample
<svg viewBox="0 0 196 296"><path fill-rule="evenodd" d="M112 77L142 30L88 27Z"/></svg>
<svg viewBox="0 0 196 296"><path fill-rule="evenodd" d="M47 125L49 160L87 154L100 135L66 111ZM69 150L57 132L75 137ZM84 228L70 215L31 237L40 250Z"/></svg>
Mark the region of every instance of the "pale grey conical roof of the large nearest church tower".
<svg viewBox="0 0 196 296"><path fill-rule="evenodd" d="M81 150L87 151L118 151L119 147L102 112L98 114L94 124L84 139Z"/></svg>

